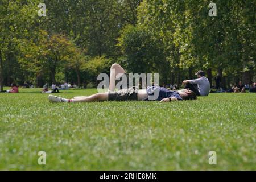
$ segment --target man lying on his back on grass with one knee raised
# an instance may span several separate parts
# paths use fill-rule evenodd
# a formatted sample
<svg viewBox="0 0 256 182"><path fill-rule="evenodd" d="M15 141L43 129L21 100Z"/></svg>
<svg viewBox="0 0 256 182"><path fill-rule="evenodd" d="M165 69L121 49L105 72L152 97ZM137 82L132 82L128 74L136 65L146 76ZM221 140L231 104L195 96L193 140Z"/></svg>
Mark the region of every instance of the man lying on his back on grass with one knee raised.
<svg viewBox="0 0 256 182"><path fill-rule="evenodd" d="M92 96L74 97L72 99L61 98L49 95L49 102L95 102L95 101L150 101L160 102L196 100L196 94L187 89L171 91L159 86L148 86L147 89L138 89L135 86L130 88L115 90L115 76L126 74L125 70L119 64L113 64L110 69L109 92L96 93ZM153 97L152 97L153 96ZM154 97L156 96L156 97Z"/></svg>

